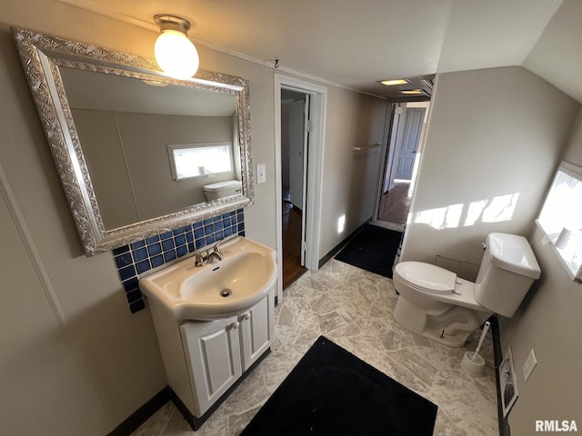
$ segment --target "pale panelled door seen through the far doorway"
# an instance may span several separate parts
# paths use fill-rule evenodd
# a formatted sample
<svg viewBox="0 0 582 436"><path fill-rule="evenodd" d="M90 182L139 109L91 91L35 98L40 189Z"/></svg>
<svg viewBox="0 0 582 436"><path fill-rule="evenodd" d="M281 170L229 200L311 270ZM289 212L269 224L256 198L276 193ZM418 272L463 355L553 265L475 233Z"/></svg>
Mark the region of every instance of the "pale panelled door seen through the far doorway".
<svg viewBox="0 0 582 436"><path fill-rule="evenodd" d="M406 120L402 146L398 151L395 178L411 180L415 167L416 149L422 133L422 125L425 119L424 107L411 107L406 109Z"/></svg>

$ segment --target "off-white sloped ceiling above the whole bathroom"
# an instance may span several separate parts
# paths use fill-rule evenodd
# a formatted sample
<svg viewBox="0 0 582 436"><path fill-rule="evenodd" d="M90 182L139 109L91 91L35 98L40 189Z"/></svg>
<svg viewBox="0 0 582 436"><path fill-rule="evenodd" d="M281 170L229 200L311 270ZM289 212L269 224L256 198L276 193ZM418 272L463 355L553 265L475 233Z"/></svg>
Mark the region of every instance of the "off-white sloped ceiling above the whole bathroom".
<svg viewBox="0 0 582 436"><path fill-rule="evenodd" d="M582 102L580 0L56 0L362 92L378 81L524 65ZM204 64L204 60L203 60Z"/></svg>

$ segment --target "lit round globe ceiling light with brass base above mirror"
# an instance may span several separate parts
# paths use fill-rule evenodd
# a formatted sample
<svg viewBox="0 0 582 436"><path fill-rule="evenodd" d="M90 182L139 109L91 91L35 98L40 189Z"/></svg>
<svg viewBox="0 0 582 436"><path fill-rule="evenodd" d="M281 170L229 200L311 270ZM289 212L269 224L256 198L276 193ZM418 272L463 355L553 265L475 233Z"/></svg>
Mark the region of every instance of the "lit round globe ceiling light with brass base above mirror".
<svg viewBox="0 0 582 436"><path fill-rule="evenodd" d="M157 64L176 79L189 79L198 71L198 52L188 39L190 22L178 15L155 15L161 35L156 39L154 53Z"/></svg>

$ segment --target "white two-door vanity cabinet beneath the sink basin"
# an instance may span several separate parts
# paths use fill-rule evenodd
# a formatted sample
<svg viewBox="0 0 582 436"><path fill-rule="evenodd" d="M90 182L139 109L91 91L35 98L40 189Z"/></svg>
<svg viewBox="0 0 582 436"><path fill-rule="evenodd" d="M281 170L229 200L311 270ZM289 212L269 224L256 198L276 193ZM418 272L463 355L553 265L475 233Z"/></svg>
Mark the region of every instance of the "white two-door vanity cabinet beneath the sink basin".
<svg viewBox="0 0 582 436"><path fill-rule="evenodd" d="M275 334L275 291L228 318L174 322L175 328L169 329L173 332L166 329L164 337L160 327L166 322L156 309L152 304L170 388L194 416L193 426L199 426L206 411L268 351ZM167 346L170 336L173 347Z"/></svg>

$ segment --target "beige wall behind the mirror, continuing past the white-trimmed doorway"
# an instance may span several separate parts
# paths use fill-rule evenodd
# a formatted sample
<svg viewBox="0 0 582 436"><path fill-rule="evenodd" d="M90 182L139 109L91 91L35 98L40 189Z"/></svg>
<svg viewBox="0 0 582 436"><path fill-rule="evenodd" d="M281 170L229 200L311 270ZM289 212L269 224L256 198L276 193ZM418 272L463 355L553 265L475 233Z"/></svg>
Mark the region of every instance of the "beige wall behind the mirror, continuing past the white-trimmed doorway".
<svg viewBox="0 0 582 436"><path fill-rule="evenodd" d="M49 0L2 2L0 17L2 431L103 435L166 375L150 313L130 314L111 253L85 257L9 26L147 57L157 35ZM273 71L198 52L202 69L249 80L254 162L266 163L267 183L255 185L246 235L275 248ZM373 154L350 147L378 142L385 103L333 86L328 103L322 221L346 213L349 233L371 215L377 171ZM326 227L321 255L345 237Z"/></svg>

